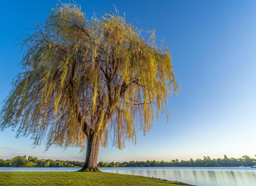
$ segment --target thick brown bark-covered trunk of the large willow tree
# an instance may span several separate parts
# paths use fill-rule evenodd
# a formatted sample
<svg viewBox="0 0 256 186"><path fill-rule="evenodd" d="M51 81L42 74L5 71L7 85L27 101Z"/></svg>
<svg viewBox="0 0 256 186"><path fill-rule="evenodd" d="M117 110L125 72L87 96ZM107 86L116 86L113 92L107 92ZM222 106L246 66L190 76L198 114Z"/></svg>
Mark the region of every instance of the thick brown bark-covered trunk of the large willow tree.
<svg viewBox="0 0 256 186"><path fill-rule="evenodd" d="M86 157L85 157L85 164L83 168L79 171L99 171L97 167L97 159L99 154L99 144L101 140L101 132L97 134L97 132L93 132L88 138L87 141L87 148L86 148Z"/></svg>

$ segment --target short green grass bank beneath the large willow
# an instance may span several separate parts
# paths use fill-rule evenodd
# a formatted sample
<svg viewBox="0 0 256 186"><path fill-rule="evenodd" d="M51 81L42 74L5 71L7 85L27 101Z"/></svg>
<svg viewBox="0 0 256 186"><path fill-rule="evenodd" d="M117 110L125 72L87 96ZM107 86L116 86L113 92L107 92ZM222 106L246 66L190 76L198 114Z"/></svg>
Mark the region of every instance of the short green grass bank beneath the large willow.
<svg viewBox="0 0 256 186"><path fill-rule="evenodd" d="M104 172L0 172L1 186L187 186L143 176Z"/></svg>

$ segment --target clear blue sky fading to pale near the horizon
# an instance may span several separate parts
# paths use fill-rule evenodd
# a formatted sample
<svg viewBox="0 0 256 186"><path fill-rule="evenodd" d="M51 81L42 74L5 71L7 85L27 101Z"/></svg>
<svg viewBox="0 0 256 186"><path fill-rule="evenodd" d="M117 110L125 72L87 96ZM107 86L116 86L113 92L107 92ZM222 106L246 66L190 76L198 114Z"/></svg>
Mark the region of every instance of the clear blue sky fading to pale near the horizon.
<svg viewBox="0 0 256 186"><path fill-rule="evenodd" d="M73 2L63 0L62 2ZM16 39L43 22L58 0L1 1L0 102L20 72ZM90 18L119 9L141 29L155 29L157 43L172 55L182 90L168 99L166 115L150 133L137 134L137 145L101 148L98 161L189 160L256 154L256 0L76 0ZM2 104L0 105L2 107ZM50 148L0 132L0 159L17 155L39 159L85 160L80 149Z"/></svg>

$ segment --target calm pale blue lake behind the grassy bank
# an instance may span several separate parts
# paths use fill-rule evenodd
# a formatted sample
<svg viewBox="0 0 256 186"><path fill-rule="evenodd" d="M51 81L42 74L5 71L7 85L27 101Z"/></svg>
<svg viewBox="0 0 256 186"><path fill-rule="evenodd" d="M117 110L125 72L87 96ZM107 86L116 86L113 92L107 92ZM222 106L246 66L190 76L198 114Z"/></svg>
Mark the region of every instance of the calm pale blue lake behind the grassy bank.
<svg viewBox="0 0 256 186"><path fill-rule="evenodd" d="M0 171L76 171L81 168L12 168ZM197 186L254 186L256 168L250 167L124 167L99 168L103 172L155 177Z"/></svg>

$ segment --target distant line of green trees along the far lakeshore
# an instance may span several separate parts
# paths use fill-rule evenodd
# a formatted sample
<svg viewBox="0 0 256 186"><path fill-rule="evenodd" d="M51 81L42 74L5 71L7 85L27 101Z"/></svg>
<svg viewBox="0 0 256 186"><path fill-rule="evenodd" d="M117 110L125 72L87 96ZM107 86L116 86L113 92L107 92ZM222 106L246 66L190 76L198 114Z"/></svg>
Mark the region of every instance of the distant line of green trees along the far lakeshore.
<svg viewBox="0 0 256 186"><path fill-rule="evenodd" d="M83 167L83 161L63 161L52 159L38 159L37 157L17 156L13 159L0 159L0 167ZM228 158L226 155L223 159L211 159L204 156L203 159L190 159L187 161L173 159L172 161L124 161L124 162L103 162L100 161L98 167L238 167L254 166L255 158L247 155L241 158Z"/></svg>

